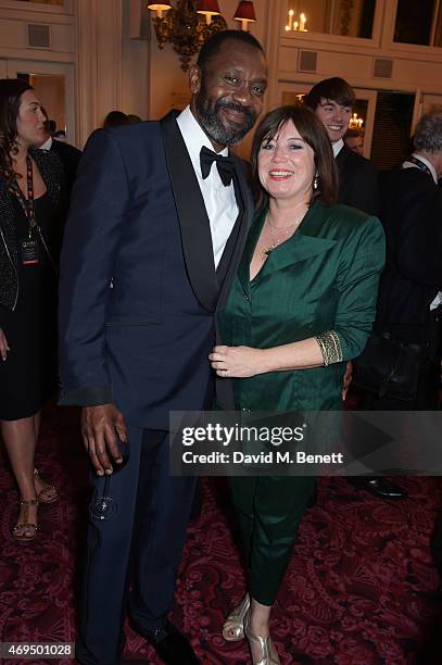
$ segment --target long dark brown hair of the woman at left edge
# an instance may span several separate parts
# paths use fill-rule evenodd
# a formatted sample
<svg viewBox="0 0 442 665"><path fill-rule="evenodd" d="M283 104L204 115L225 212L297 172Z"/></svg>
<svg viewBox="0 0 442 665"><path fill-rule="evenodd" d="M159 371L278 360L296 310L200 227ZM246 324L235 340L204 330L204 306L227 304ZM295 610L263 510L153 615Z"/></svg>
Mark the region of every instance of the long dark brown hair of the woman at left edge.
<svg viewBox="0 0 442 665"><path fill-rule="evenodd" d="M0 172L9 180L16 176L12 155L18 151L17 116L21 97L26 90L34 88L24 80L0 78Z"/></svg>

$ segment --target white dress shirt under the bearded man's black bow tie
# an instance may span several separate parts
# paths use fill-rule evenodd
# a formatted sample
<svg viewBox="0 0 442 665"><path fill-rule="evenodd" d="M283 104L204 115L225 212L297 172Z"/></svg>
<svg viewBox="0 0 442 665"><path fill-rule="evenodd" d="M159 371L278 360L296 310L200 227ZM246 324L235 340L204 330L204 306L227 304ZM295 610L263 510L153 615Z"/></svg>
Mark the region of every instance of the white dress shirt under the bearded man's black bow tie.
<svg viewBox="0 0 442 665"><path fill-rule="evenodd" d="M203 179L201 174L200 151L203 146L209 148L209 150L213 150L213 146L193 117L190 106L187 106L178 115L177 123L192 162L198 184L200 185L205 210L207 211L212 234L214 264L216 268L238 217L239 211L235 198L233 183L230 183L227 187L223 185L215 163L212 164L209 176ZM227 156L228 149L225 148L218 154Z"/></svg>

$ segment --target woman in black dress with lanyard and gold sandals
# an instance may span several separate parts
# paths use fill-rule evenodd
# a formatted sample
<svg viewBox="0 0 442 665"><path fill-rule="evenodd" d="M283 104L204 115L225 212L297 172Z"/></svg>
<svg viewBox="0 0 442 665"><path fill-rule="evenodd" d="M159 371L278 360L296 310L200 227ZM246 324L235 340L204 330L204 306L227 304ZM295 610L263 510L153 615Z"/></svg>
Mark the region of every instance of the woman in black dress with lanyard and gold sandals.
<svg viewBox="0 0 442 665"><path fill-rule="evenodd" d="M56 247L62 166L41 145L45 116L25 81L0 79L0 431L20 491L12 535L29 542L39 503L56 490L38 475L40 412L56 377Z"/></svg>

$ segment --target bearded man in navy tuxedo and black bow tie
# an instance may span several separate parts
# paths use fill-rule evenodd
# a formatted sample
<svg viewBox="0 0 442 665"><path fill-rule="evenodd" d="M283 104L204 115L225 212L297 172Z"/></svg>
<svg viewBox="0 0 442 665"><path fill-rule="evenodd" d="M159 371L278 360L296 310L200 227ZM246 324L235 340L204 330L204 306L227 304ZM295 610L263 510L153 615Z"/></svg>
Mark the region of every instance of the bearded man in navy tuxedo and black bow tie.
<svg viewBox="0 0 442 665"><path fill-rule="evenodd" d="M194 489L169 476L168 414L210 407L215 394L214 314L253 213L228 146L253 126L265 88L261 45L219 33L190 70L190 106L97 130L80 163L62 252L61 403L84 406L96 498L129 449L110 484L116 515L89 527L85 665L119 663L126 610L166 663L198 662L167 620ZM224 381L216 399L232 406Z"/></svg>

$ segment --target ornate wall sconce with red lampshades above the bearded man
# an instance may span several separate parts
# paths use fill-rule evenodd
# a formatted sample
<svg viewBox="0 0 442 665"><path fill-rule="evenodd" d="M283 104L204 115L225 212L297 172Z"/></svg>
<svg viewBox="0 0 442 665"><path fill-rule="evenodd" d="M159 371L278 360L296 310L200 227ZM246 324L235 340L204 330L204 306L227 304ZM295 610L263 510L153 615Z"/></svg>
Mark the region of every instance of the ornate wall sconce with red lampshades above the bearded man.
<svg viewBox="0 0 442 665"><path fill-rule="evenodd" d="M167 41L173 43L185 72L212 35L227 30L217 0L177 0L176 8L172 2L149 2L148 9L156 13L152 22L159 48L163 49ZM249 23L256 21L253 2L240 2L235 20L247 30Z"/></svg>

